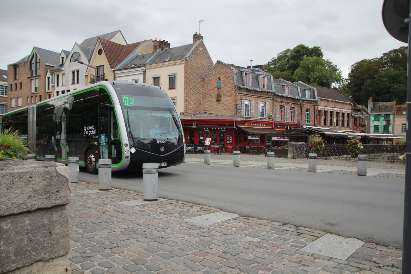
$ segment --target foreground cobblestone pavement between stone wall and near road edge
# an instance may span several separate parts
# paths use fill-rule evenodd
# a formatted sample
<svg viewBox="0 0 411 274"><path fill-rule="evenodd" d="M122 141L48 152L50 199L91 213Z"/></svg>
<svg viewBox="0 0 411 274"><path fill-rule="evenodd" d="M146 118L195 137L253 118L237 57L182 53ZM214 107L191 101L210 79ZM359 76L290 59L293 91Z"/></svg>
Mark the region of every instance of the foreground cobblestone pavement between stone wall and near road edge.
<svg viewBox="0 0 411 274"><path fill-rule="evenodd" d="M72 274L392 274L402 251L364 244L347 260L300 249L326 232L239 216L208 226L188 218L219 209L177 200L127 206L141 193L71 184Z"/></svg>

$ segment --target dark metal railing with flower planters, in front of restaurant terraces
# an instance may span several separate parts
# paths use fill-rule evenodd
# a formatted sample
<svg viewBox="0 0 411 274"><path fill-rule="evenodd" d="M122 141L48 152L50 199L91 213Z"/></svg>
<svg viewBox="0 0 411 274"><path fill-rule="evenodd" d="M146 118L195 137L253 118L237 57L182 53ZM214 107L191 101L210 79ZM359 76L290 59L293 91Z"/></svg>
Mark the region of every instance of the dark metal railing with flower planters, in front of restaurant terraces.
<svg viewBox="0 0 411 274"><path fill-rule="evenodd" d="M295 158L308 158L309 153L312 152L312 148L309 144L293 144ZM399 153L397 150L397 145L365 145L363 144L363 150L361 154L367 154L367 161L373 162L391 162L399 163L402 162L398 158ZM323 153L317 155L317 159L321 158L323 160L335 159L335 160L357 160L357 158L351 158L348 153L346 144L324 144Z"/></svg>

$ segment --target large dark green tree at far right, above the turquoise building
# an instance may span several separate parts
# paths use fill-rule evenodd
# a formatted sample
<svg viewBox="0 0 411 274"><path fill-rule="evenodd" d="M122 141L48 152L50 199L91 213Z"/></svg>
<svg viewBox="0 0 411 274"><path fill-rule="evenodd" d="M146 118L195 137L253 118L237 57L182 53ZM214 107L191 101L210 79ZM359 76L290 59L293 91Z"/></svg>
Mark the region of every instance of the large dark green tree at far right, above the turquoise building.
<svg viewBox="0 0 411 274"><path fill-rule="evenodd" d="M384 53L380 58L364 59L351 65L346 92L357 104L367 106L369 97L376 102L406 102L406 46Z"/></svg>

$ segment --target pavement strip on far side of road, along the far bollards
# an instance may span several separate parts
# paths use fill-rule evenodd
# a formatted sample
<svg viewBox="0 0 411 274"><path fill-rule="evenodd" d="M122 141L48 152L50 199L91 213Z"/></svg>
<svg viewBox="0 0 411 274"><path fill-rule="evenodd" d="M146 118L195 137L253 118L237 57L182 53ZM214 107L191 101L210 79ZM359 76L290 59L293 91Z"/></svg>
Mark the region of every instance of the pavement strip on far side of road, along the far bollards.
<svg viewBox="0 0 411 274"><path fill-rule="evenodd" d="M204 164L204 156L203 154L186 154L185 162ZM233 154L211 154L211 164L233 166ZM240 154L240 167L266 169L267 157L263 154ZM278 168L308 172L308 160L275 157L275 169ZM317 172L357 176L357 161L317 159ZM367 162L367 173L367 176L405 179L405 163Z"/></svg>

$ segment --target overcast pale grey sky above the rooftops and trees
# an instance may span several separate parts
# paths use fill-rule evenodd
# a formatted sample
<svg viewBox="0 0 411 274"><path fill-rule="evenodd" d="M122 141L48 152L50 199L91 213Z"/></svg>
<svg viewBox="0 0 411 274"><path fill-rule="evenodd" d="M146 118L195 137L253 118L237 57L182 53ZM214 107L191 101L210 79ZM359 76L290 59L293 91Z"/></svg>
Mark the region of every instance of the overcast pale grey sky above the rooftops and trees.
<svg viewBox="0 0 411 274"><path fill-rule="evenodd" d="M383 0L4 0L0 4L0 69L33 46L71 51L75 42L121 30L127 43L164 39L192 43L199 32L215 63L266 64L298 44L320 46L347 77L363 59L405 46L381 18Z"/></svg>

